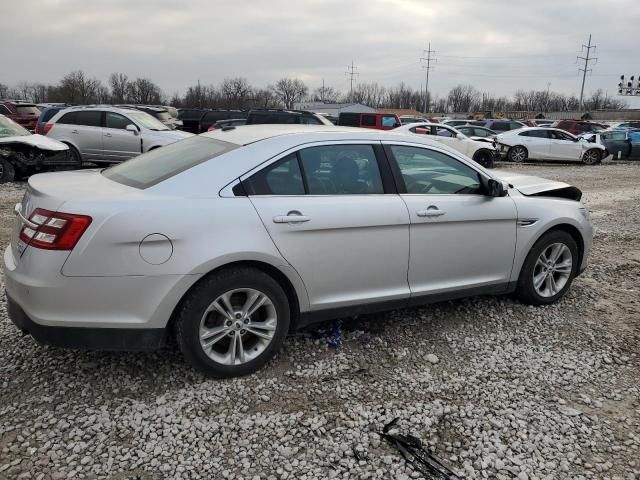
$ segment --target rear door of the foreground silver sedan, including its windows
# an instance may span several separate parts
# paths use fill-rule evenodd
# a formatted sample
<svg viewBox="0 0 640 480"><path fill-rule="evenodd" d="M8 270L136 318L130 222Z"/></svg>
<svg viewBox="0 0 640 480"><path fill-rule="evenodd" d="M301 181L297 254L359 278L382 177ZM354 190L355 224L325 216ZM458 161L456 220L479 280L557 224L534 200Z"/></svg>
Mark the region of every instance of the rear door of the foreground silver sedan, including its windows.
<svg viewBox="0 0 640 480"><path fill-rule="evenodd" d="M409 216L379 143L305 146L243 179L312 310L409 296Z"/></svg>

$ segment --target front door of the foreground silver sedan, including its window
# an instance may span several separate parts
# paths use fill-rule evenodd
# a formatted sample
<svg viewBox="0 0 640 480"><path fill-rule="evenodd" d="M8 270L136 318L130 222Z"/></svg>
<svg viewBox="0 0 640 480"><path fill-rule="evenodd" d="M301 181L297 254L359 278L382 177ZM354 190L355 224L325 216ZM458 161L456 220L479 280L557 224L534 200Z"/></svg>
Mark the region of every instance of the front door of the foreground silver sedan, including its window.
<svg viewBox="0 0 640 480"><path fill-rule="evenodd" d="M505 290L516 244L513 200L485 195L479 173L443 151L395 143L387 152L411 218L412 298Z"/></svg>

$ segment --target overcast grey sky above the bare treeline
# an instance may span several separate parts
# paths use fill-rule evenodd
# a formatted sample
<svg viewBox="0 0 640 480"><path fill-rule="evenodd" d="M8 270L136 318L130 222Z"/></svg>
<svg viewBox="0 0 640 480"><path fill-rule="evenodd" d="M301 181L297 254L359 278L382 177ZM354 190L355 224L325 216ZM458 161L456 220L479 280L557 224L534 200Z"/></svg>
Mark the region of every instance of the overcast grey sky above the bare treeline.
<svg viewBox="0 0 640 480"><path fill-rule="evenodd" d="M640 0L1 0L0 12L9 85L82 69L149 77L168 95L231 76L260 86L298 77L311 88L324 79L348 91L353 60L357 81L419 88L430 41L436 95L458 83L578 94L589 33L598 63L587 93L615 95L620 74L640 74Z"/></svg>

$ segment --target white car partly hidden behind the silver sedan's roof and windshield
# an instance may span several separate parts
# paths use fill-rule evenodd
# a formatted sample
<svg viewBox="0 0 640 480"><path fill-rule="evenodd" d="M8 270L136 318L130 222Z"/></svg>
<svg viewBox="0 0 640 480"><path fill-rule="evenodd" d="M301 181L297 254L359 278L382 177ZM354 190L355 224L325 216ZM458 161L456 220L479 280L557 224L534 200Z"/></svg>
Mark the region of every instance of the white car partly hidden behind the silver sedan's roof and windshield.
<svg viewBox="0 0 640 480"><path fill-rule="evenodd" d="M496 148L492 144L469 138L455 128L441 123L410 123L395 128L393 131L397 133L428 135L428 138L453 148L471 158L474 162L487 168L493 167L493 161L497 153Z"/></svg>

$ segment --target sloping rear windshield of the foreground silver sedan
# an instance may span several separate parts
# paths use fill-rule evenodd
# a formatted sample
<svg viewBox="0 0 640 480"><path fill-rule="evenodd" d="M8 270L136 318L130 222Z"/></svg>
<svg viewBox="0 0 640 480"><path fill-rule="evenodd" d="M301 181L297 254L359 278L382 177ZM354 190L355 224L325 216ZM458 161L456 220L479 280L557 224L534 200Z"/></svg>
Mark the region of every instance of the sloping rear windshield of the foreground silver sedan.
<svg viewBox="0 0 640 480"><path fill-rule="evenodd" d="M190 137L143 153L104 170L102 174L114 182L130 187L149 188L238 146L213 138Z"/></svg>

